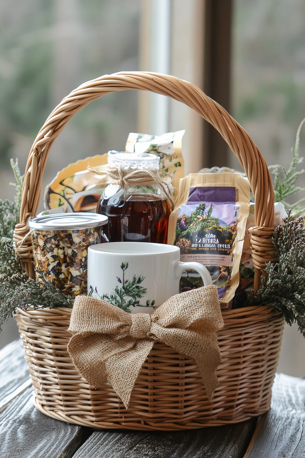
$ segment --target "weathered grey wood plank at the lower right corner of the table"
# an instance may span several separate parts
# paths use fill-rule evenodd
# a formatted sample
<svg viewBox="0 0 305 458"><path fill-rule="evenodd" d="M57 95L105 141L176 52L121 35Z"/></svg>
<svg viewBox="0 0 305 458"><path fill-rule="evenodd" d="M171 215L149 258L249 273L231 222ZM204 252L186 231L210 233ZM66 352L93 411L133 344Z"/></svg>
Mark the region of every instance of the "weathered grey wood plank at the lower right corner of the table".
<svg viewBox="0 0 305 458"><path fill-rule="evenodd" d="M271 410L263 415L245 458L305 457L305 380L276 374Z"/></svg>

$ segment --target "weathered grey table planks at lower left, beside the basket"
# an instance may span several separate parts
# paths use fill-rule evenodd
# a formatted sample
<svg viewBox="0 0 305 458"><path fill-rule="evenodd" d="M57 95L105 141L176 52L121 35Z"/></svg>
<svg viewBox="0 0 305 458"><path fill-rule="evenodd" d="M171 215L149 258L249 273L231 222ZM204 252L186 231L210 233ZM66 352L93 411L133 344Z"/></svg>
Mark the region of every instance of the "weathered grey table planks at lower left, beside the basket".
<svg viewBox="0 0 305 458"><path fill-rule="evenodd" d="M19 343L0 351L0 367L0 457L72 457L92 430L54 420L34 407Z"/></svg>

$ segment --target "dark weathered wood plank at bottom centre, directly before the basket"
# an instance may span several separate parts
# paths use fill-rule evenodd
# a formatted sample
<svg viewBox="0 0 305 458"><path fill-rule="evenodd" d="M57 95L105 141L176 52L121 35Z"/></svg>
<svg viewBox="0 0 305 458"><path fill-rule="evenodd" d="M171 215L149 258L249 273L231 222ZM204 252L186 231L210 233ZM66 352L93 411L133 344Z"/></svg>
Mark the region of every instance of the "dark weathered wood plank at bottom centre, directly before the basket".
<svg viewBox="0 0 305 458"><path fill-rule="evenodd" d="M73 458L241 458L256 420L174 432L95 431Z"/></svg>

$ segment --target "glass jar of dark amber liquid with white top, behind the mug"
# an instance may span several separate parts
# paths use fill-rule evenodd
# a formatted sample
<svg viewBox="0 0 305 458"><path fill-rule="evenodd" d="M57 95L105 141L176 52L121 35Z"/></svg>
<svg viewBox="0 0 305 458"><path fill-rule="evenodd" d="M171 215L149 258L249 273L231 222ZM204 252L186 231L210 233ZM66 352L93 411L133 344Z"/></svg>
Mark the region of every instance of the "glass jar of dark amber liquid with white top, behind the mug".
<svg viewBox="0 0 305 458"><path fill-rule="evenodd" d="M156 174L160 158L150 153L108 152L108 165L121 169L126 177L122 185L109 184L96 208L97 213L108 217L107 237L110 242L167 242L168 218L171 201L162 186L151 179L149 172ZM137 174L128 180L132 171L147 172L147 184L137 184ZM159 177L160 179L160 177Z"/></svg>

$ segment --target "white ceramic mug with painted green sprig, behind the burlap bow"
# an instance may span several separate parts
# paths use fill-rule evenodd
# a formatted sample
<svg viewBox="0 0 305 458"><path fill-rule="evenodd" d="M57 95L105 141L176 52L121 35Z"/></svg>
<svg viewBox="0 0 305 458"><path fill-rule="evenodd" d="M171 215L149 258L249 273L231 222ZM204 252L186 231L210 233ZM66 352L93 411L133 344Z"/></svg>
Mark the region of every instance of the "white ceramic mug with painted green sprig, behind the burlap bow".
<svg viewBox="0 0 305 458"><path fill-rule="evenodd" d="M181 262L178 246L150 242L109 242L88 247L88 295L131 313L151 313L179 293L182 272L195 270L212 284L199 262Z"/></svg>

